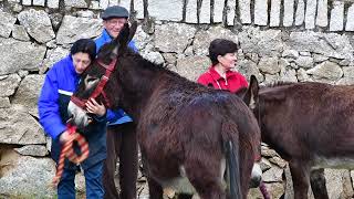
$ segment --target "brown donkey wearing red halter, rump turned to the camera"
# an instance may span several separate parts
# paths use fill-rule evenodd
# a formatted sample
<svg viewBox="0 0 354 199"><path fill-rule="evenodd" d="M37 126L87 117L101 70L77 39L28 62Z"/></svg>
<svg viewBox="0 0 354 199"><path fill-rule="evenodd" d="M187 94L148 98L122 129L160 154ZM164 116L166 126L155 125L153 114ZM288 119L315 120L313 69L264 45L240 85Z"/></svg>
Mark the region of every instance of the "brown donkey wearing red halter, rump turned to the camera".
<svg viewBox="0 0 354 199"><path fill-rule="evenodd" d="M204 199L246 199L260 145L252 112L233 94L132 52L126 45L133 34L125 25L83 74L69 105L74 123L90 127L81 103L88 97L123 107L137 125L152 199L163 198L164 188Z"/></svg>

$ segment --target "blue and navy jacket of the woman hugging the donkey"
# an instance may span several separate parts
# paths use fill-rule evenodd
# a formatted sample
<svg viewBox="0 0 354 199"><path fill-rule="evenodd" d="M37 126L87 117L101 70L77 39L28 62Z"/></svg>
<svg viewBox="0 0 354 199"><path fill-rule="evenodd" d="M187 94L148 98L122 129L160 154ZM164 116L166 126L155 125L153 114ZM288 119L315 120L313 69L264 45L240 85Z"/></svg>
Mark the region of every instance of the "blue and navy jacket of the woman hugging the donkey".
<svg viewBox="0 0 354 199"><path fill-rule="evenodd" d="M80 75L75 72L73 60L67 55L56 62L46 73L45 81L39 97L38 107L40 123L44 132L52 137L52 158L58 163L62 148L59 135L66 129L67 104L79 84ZM96 119L80 132L88 142L90 155L81 165L90 168L106 158L106 119ZM65 168L75 165L66 160Z"/></svg>

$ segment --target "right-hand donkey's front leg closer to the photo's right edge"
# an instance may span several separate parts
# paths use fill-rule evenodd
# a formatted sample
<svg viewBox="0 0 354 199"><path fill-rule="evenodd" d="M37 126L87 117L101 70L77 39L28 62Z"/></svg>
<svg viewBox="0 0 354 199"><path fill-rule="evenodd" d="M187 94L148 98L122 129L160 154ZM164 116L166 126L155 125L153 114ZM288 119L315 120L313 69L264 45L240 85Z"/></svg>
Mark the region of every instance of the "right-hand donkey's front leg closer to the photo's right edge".
<svg viewBox="0 0 354 199"><path fill-rule="evenodd" d="M315 199L329 199L327 189L325 187L324 169L315 169L310 174L310 182Z"/></svg>

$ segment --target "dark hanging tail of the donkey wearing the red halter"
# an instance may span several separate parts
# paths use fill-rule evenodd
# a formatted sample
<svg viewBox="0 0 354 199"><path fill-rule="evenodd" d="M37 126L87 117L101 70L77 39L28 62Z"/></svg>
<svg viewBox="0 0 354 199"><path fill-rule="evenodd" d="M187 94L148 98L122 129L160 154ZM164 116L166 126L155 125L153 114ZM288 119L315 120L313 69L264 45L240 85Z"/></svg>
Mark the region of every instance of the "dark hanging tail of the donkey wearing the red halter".
<svg viewBox="0 0 354 199"><path fill-rule="evenodd" d="M231 199L241 199L239 147L231 140L225 143L229 166L229 190Z"/></svg>

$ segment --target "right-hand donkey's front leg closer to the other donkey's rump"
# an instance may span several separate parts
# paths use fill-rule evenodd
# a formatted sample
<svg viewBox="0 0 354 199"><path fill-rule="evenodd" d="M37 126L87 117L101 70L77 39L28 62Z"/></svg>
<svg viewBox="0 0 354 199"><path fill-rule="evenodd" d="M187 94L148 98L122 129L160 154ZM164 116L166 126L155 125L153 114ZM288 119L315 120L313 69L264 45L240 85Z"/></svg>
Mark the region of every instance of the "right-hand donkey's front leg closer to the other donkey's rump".
<svg viewBox="0 0 354 199"><path fill-rule="evenodd" d="M294 199L308 199L310 186L310 166L308 161L292 159L289 166L294 186Z"/></svg>

